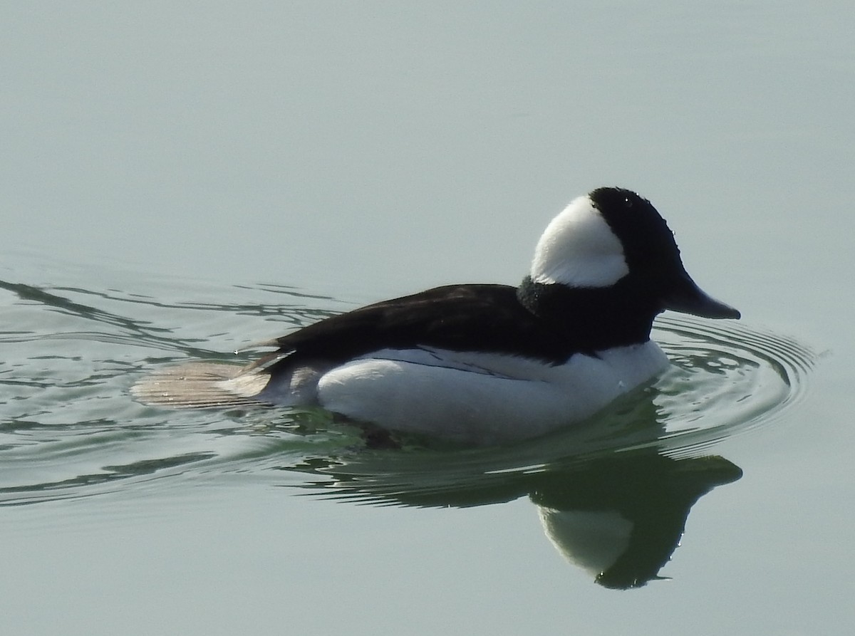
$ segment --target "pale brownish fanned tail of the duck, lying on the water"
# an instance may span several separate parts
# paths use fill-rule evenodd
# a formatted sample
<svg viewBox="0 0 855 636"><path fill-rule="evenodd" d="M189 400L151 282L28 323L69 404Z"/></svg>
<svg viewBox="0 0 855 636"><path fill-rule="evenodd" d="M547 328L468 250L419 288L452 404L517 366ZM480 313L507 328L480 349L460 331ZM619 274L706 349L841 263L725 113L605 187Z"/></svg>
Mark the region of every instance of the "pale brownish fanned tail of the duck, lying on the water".
<svg viewBox="0 0 855 636"><path fill-rule="evenodd" d="M142 403L179 409L260 404L257 395L269 379L236 364L188 362L139 380L131 393Z"/></svg>

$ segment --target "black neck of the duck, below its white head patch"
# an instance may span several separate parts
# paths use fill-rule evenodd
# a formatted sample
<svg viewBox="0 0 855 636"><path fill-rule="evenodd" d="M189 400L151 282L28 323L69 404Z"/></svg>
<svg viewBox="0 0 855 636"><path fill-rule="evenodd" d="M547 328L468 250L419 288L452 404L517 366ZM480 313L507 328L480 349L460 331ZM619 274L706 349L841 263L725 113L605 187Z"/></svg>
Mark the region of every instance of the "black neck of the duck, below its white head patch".
<svg viewBox="0 0 855 636"><path fill-rule="evenodd" d="M653 319L661 311L631 281L608 287L569 287L536 283L530 276L516 291L520 303L549 322L582 349L604 350L650 339Z"/></svg>

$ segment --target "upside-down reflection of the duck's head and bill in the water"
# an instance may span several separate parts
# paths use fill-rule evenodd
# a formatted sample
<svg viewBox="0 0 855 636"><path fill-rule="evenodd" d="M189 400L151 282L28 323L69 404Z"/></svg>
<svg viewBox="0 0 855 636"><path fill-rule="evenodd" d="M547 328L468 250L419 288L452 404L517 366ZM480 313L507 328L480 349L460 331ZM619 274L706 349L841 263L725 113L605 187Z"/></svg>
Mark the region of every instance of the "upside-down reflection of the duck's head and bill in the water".
<svg viewBox="0 0 855 636"><path fill-rule="evenodd" d="M656 579L693 504L741 474L719 456L675 460L646 452L551 475L530 497L563 557L600 585L626 589Z"/></svg>

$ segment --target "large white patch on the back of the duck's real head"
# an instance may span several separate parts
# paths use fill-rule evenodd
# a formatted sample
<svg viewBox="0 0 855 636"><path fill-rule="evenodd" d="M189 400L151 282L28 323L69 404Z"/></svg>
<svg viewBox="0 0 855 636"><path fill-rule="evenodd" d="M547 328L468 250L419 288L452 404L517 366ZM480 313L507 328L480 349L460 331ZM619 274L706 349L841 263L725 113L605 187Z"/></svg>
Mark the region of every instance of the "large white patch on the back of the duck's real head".
<svg viewBox="0 0 855 636"><path fill-rule="evenodd" d="M629 273L623 246L590 197L575 198L557 215L534 250L536 283L606 287Z"/></svg>

